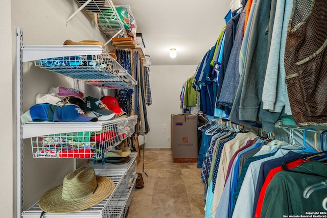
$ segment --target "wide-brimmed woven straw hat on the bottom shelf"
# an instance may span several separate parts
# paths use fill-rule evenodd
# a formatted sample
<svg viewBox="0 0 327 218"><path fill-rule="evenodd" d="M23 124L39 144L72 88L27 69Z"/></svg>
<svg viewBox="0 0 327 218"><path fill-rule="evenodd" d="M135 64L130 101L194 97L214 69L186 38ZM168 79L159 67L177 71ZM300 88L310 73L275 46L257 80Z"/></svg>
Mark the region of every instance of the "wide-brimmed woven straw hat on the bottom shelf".
<svg viewBox="0 0 327 218"><path fill-rule="evenodd" d="M81 167L65 176L63 183L45 192L40 208L50 213L71 213L92 207L113 191L111 179L96 176L94 168Z"/></svg>

